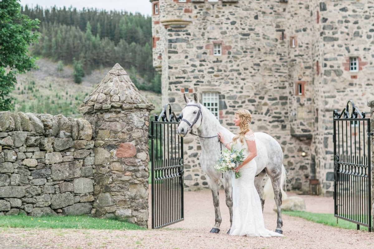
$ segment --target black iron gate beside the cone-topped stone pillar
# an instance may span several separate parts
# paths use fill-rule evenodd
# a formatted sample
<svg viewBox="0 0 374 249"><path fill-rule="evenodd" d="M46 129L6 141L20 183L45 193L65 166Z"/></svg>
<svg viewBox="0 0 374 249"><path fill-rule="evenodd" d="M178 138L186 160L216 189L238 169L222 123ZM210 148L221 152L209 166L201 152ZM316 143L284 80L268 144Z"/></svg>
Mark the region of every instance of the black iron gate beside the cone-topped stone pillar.
<svg viewBox="0 0 374 249"><path fill-rule="evenodd" d="M184 219L183 137L169 104L151 121L152 228L161 228Z"/></svg>

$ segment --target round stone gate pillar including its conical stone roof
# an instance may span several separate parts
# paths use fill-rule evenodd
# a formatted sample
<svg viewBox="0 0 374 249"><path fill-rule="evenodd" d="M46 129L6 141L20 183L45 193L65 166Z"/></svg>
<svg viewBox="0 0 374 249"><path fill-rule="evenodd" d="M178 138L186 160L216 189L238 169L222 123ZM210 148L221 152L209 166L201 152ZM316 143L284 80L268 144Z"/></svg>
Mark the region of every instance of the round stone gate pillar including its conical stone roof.
<svg viewBox="0 0 374 249"><path fill-rule="evenodd" d="M148 128L154 109L117 63L79 110L93 127L96 217L148 221Z"/></svg>

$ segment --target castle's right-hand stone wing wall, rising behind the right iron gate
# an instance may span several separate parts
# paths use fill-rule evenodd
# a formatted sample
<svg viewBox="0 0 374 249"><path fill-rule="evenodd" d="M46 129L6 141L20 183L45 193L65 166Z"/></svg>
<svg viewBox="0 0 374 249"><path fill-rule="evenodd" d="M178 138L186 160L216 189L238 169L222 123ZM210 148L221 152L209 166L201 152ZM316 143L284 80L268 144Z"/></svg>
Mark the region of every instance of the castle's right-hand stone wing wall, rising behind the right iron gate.
<svg viewBox="0 0 374 249"><path fill-rule="evenodd" d="M315 70L312 155L322 192L332 196L334 163L332 112L339 112L349 100L370 115L367 106L374 99L373 1L313 1L315 24ZM349 71L349 57L359 58L359 71Z"/></svg>

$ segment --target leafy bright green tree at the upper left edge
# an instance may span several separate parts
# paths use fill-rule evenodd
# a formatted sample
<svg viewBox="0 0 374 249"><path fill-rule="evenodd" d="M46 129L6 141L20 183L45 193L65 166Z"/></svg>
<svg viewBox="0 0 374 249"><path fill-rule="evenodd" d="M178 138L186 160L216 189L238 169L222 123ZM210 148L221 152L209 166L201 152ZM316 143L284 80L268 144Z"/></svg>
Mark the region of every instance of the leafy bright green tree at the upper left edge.
<svg viewBox="0 0 374 249"><path fill-rule="evenodd" d="M39 28L39 20L22 15L18 1L0 1L0 111L14 108L14 98L9 94L17 83L16 74L36 67L36 59L28 55L28 47L39 37L38 32L33 32Z"/></svg>

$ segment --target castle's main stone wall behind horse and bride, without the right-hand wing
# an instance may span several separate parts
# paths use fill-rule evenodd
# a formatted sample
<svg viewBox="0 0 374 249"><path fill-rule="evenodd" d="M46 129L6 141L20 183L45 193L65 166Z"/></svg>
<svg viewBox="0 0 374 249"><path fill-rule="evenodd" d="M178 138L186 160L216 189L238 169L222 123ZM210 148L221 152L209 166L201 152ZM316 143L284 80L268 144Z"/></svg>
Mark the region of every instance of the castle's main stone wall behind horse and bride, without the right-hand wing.
<svg viewBox="0 0 374 249"><path fill-rule="evenodd" d="M300 5L307 4L292 1L292 8L284 11L287 3L275 1L258 1L255 6L252 1L240 0L158 3L160 17L154 18L159 19L158 29L163 31L159 31L162 36L154 51L159 52L159 44L166 43L162 54L163 104L171 103L173 111L179 113L183 93L197 93L201 101L203 92L218 92L220 122L234 133L234 111L248 109L253 114L251 128L271 134L281 144L289 189L309 189L310 157L300 155L304 151L310 156L312 90L295 96L294 80L312 82L312 57L307 47L289 49L291 30L303 30L301 26L307 22L292 26L288 20L292 11L298 12ZM304 12L309 15L309 10ZM286 34L283 40L282 32ZM215 43L222 44L221 56L213 55ZM306 74L290 69L296 66L307 68ZM303 113L291 116L297 110ZM199 166L198 139L186 137L184 144L187 190L208 187Z"/></svg>

